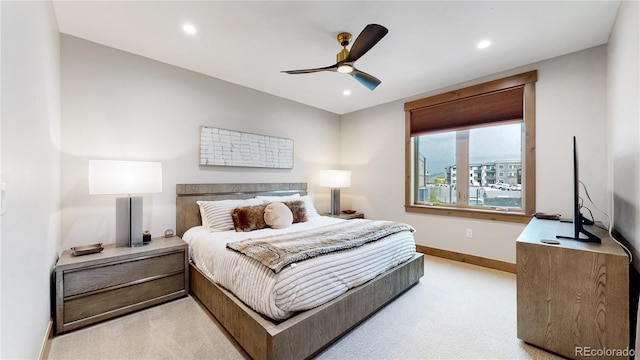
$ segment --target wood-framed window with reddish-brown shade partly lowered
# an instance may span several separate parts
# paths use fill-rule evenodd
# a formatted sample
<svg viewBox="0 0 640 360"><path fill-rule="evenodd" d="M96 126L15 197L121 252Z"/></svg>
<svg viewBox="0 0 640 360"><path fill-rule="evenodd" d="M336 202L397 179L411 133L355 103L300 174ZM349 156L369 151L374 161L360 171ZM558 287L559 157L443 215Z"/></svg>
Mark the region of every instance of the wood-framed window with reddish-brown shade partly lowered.
<svg viewBox="0 0 640 360"><path fill-rule="evenodd" d="M406 211L528 221L536 79L531 71L405 104Z"/></svg>

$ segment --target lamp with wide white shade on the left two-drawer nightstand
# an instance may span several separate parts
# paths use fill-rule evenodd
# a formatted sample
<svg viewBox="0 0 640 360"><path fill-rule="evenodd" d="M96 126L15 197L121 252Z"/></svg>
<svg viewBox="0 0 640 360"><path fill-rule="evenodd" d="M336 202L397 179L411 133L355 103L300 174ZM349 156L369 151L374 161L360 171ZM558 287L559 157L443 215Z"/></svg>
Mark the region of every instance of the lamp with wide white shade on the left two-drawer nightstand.
<svg viewBox="0 0 640 360"><path fill-rule="evenodd" d="M116 198L116 247L142 246L142 196L162 192L162 164L89 160L89 194Z"/></svg>

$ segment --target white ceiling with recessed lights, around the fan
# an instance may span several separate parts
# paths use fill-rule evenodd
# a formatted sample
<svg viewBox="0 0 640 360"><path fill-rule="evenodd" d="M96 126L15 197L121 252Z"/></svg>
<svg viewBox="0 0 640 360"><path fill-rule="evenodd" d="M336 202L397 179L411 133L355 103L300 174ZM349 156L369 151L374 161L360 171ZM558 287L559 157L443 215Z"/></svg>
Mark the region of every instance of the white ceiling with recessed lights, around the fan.
<svg viewBox="0 0 640 360"><path fill-rule="evenodd" d="M605 44L619 1L57 1L60 32L346 114ZM197 33L182 30L193 24ZM346 31L389 33L356 62L371 91L335 72ZM491 46L478 49L488 39ZM352 42L353 43L353 42ZM343 91L350 90L350 95Z"/></svg>

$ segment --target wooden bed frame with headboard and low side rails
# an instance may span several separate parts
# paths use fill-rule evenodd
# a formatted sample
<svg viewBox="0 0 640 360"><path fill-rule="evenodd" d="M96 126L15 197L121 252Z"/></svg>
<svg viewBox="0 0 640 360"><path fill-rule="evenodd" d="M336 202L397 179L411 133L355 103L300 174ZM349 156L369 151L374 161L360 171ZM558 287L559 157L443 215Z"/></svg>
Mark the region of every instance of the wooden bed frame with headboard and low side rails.
<svg viewBox="0 0 640 360"><path fill-rule="evenodd" d="M178 184L177 235L201 223L198 200L248 199L256 195L307 194L305 183ZM247 307L190 264L190 291L253 359L312 357L420 281L422 254L342 296L282 322Z"/></svg>

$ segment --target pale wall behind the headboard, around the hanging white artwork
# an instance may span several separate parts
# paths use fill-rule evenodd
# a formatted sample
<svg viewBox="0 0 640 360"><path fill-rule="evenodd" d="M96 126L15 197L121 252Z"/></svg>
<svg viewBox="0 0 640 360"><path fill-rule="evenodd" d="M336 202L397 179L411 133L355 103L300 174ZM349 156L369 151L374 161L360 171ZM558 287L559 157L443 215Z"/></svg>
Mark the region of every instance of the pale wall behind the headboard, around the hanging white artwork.
<svg viewBox="0 0 640 360"><path fill-rule="evenodd" d="M144 228L175 229L177 183L309 182L340 160L338 115L62 35L62 248L111 243L115 198L90 196L90 159L162 162L163 192L144 196ZM294 140L291 170L199 166L201 125Z"/></svg>

